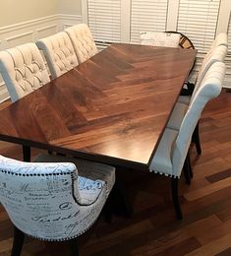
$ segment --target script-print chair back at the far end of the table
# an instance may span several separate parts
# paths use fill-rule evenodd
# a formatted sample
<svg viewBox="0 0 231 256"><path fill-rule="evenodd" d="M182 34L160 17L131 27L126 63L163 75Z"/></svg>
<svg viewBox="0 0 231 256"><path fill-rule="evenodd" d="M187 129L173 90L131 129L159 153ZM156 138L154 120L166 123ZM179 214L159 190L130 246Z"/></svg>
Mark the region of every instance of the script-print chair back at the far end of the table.
<svg viewBox="0 0 231 256"><path fill-rule="evenodd" d="M178 48L181 34L172 32L141 32L141 44Z"/></svg>

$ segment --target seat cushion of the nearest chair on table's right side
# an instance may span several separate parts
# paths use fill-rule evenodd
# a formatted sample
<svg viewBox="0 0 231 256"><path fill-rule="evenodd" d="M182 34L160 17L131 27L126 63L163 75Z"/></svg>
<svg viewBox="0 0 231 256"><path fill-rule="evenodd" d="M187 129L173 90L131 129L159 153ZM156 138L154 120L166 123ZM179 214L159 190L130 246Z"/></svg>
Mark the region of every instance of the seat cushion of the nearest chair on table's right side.
<svg viewBox="0 0 231 256"><path fill-rule="evenodd" d="M172 148L177 135L177 131L168 128L165 129L158 148L150 163L150 171L172 176Z"/></svg>

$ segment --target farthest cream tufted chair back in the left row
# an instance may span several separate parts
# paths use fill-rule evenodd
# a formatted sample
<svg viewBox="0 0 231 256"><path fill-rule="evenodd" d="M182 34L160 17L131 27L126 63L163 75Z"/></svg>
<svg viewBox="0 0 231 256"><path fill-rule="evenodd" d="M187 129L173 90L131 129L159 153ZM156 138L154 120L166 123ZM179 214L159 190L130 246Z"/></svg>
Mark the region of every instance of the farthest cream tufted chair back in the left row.
<svg viewBox="0 0 231 256"><path fill-rule="evenodd" d="M78 24L65 30L70 36L80 63L86 61L98 50L86 24Z"/></svg>

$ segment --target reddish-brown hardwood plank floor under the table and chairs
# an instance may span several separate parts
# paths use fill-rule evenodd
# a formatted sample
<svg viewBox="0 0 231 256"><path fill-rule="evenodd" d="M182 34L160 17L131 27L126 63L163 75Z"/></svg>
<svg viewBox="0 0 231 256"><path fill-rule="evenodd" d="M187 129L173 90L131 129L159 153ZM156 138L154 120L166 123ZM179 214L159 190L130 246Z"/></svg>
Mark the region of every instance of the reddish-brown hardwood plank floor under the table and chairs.
<svg viewBox="0 0 231 256"><path fill-rule="evenodd" d="M7 103L0 105L4 107ZM180 180L183 221L176 221L170 180L138 170L123 170L131 219L103 218L80 237L81 255L231 255L231 94L223 92L205 108L200 134L202 156L192 147L194 179ZM38 151L33 150L36 155ZM0 142L0 154L22 159L21 147ZM0 207L0 255L10 255L12 224ZM22 255L66 255L62 243L27 238Z"/></svg>

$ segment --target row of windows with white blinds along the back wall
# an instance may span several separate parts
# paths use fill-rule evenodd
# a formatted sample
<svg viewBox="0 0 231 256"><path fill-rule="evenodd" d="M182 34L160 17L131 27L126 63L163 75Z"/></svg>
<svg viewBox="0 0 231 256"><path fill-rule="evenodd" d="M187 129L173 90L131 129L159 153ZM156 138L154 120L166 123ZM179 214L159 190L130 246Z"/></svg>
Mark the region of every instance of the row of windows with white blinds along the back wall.
<svg viewBox="0 0 231 256"><path fill-rule="evenodd" d="M82 0L82 7L97 41L139 43L145 31L186 34L198 50L196 70L218 32L229 30L231 49L230 0ZM226 64L231 82L231 51Z"/></svg>

